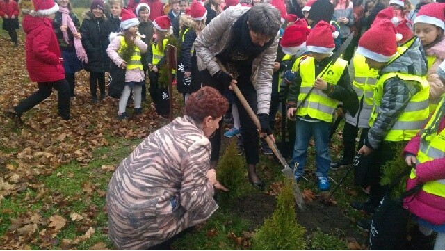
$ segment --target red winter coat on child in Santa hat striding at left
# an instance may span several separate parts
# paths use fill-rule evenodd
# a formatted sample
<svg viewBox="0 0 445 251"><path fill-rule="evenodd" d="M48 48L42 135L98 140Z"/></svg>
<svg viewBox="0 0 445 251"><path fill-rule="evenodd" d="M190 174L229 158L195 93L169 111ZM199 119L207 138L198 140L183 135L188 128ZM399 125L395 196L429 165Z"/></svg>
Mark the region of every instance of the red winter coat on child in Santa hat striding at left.
<svg viewBox="0 0 445 251"><path fill-rule="evenodd" d="M47 17L25 15L23 30L26 33L26 70L33 82L54 82L65 79L62 54L52 20Z"/></svg>

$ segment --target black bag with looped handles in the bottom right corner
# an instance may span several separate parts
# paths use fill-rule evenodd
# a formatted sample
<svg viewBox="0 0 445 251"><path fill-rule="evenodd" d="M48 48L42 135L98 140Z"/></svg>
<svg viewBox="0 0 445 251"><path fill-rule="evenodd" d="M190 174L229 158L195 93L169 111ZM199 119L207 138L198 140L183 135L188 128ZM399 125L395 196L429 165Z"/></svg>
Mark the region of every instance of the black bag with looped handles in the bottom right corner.
<svg viewBox="0 0 445 251"><path fill-rule="evenodd" d="M371 229L369 229L369 248L371 250L407 249L407 228L410 212L403 208L403 198L418 193L423 184L417 184L396 199L391 197L391 192L411 170L408 171L403 172L391 183L377 211L371 218Z"/></svg>

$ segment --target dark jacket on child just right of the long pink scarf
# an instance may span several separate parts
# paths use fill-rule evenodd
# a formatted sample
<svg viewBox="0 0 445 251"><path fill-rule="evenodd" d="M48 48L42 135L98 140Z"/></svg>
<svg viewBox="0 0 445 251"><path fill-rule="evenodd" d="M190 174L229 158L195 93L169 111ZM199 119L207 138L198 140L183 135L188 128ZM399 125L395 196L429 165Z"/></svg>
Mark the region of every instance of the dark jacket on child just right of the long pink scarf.
<svg viewBox="0 0 445 251"><path fill-rule="evenodd" d="M86 13L81 26L82 45L88 55L88 72L108 72L110 60L106 54L108 34L105 31L106 17L97 19L90 11Z"/></svg>

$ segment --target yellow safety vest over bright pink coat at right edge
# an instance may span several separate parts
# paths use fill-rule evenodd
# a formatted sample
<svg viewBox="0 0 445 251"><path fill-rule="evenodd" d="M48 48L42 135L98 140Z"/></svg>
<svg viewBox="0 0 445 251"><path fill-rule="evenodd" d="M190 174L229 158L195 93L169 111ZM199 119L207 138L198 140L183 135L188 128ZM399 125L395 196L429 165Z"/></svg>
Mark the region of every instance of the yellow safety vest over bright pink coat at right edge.
<svg viewBox="0 0 445 251"><path fill-rule="evenodd" d="M442 106L442 102L439 103L439 107ZM432 122L439 115L439 109L433 113L432 118L426 124L425 129L432 127ZM439 118L439 121L442 118ZM423 133L422 133L423 134ZM425 163L426 161L432 161L433 159L439 159L445 157L445 130L442 130L440 133L432 133L432 135L427 136L425 139L421 139L419 152L417 152L417 164ZM415 170L411 170L410 178L414 179L416 177ZM445 179L440 179L436 181L428 181L426 184L423 184L422 190L426 193L430 193L433 195L437 195L440 197L445 197Z"/></svg>

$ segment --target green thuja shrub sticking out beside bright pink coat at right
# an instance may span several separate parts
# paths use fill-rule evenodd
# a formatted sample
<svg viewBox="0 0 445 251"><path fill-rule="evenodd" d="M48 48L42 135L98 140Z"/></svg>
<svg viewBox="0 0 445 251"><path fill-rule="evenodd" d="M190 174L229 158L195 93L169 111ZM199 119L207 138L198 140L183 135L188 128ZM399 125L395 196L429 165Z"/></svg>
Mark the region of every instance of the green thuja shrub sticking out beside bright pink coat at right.
<svg viewBox="0 0 445 251"><path fill-rule="evenodd" d="M405 147L405 143L399 143L396 147L394 147L394 151L397 153L403 152L403 148ZM380 184L382 186L389 186L393 181L398 179L398 176L401 175L402 172L407 170L411 170L411 167L405 163L405 159L401 156L401 154L396 154L394 159L391 161L387 161L385 165L382 166L382 179L380 179ZM400 197L403 192L405 192L406 181L409 175L405 175L400 179L400 182L397 186L394 187L391 192L391 197L396 198Z"/></svg>

